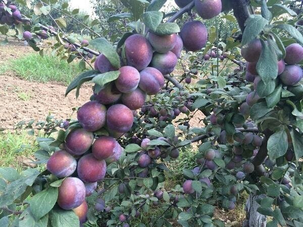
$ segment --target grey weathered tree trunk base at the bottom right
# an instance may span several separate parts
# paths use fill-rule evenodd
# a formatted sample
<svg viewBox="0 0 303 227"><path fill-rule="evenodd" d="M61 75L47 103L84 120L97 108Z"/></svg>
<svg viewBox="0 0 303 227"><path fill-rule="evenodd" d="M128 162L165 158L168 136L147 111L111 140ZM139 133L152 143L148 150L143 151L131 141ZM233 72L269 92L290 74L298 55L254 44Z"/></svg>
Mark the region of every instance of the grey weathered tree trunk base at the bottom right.
<svg viewBox="0 0 303 227"><path fill-rule="evenodd" d="M243 222L243 227L265 227L266 216L257 211L260 206L257 202L258 198L264 197L263 195L256 195L250 193L245 205L246 219Z"/></svg>

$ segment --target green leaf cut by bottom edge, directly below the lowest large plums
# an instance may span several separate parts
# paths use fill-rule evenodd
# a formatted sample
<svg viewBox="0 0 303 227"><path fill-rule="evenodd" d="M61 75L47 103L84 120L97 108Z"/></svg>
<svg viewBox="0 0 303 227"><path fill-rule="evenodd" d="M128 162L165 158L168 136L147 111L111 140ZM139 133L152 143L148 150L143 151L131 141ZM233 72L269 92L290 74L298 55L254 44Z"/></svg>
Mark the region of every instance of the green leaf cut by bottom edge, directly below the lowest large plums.
<svg viewBox="0 0 303 227"><path fill-rule="evenodd" d="M75 227L79 226L79 218L73 210L53 209L49 212L49 220L52 227Z"/></svg>

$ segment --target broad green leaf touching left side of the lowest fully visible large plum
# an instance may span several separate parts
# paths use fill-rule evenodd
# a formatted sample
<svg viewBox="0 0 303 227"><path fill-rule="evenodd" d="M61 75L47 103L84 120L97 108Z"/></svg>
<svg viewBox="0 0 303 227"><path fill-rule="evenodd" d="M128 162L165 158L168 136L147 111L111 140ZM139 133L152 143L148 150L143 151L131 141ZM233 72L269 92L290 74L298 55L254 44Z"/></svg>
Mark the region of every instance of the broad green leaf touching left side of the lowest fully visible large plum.
<svg viewBox="0 0 303 227"><path fill-rule="evenodd" d="M58 188L49 187L36 195L29 201L30 211L36 220L39 220L55 206L58 198Z"/></svg>

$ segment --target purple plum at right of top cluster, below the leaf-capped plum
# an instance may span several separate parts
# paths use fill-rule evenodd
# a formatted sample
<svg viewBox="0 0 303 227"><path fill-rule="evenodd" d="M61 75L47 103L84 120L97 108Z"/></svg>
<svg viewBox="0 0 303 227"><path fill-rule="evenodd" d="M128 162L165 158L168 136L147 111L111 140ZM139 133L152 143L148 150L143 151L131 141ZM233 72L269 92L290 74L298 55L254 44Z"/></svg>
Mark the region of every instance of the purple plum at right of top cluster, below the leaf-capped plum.
<svg viewBox="0 0 303 227"><path fill-rule="evenodd" d="M174 71L177 63L177 56L173 52L168 51L166 53L155 52L150 65L159 70L163 75L167 75Z"/></svg>

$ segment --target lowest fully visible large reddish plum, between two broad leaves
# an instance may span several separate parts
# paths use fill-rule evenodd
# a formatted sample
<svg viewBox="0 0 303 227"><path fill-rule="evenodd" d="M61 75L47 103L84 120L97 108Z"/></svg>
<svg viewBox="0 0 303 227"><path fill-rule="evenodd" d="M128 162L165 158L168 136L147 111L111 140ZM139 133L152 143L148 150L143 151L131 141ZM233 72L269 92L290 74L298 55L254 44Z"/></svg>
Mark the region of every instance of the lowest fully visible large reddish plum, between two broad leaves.
<svg viewBox="0 0 303 227"><path fill-rule="evenodd" d="M85 186L79 178L66 178L58 189L58 205L65 210L80 206L85 200Z"/></svg>

